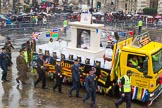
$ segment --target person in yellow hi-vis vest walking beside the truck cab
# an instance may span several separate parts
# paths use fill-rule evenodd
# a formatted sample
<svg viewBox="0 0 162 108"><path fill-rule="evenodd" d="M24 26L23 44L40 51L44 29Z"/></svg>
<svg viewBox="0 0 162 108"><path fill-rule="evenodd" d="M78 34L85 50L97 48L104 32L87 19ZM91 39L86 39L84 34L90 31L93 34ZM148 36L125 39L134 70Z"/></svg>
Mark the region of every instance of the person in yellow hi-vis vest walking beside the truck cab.
<svg viewBox="0 0 162 108"><path fill-rule="evenodd" d="M127 75L124 75L119 81L119 90L121 98L115 103L116 108L119 108L124 101L126 108L131 108L131 75L132 71L128 70Z"/></svg>

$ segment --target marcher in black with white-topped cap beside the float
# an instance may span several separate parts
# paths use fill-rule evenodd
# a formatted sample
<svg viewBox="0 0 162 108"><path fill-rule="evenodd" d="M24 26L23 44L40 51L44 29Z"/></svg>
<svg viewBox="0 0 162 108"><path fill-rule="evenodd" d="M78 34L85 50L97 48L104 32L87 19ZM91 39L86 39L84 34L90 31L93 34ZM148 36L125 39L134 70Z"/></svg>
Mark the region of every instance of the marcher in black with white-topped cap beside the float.
<svg viewBox="0 0 162 108"><path fill-rule="evenodd" d="M62 67L61 67L60 59L57 59L55 69L56 69L56 83L53 87L53 91L55 92L55 89L58 87L59 93L63 93L62 92Z"/></svg>

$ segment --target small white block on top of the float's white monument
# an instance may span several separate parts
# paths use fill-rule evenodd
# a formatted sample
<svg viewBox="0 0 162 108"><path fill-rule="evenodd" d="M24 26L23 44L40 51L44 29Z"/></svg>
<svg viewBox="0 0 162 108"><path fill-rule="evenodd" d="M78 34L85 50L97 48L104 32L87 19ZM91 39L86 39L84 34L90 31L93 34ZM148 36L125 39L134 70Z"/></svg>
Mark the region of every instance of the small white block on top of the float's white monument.
<svg viewBox="0 0 162 108"><path fill-rule="evenodd" d="M81 14L80 22L82 24L91 24L91 20L92 20L92 14L90 14L90 13L82 13Z"/></svg>

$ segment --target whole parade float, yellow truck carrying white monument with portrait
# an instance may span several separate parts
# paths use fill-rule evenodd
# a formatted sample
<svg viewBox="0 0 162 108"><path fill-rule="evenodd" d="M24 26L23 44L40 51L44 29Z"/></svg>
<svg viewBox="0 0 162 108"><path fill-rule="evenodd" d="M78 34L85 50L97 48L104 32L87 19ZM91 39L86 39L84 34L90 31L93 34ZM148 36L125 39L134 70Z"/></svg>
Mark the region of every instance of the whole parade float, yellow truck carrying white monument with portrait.
<svg viewBox="0 0 162 108"><path fill-rule="evenodd" d="M71 82L71 66L74 59L80 63L81 82L90 67L96 67L97 92L118 94L117 80L124 76L127 70L132 75L132 99L152 102L162 92L162 44L153 42L149 33L143 33L117 42L113 50L100 47L100 35L103 24L93 24L91 14L81 15L80 22L69 23L71 27L71 42L54 41L36 46L36 54L43 53L46 57L48 73L55 73L56 59L61 59L64 82ZM119 40L115 33L116 40ZM36 55L34 54L34 55ZM129 66L133 56L142 58L140 69ZM158 60L154 61L153 56ZM51 59L53 59L51 62ZM156 66L156 67L155 67Z"/></svg>

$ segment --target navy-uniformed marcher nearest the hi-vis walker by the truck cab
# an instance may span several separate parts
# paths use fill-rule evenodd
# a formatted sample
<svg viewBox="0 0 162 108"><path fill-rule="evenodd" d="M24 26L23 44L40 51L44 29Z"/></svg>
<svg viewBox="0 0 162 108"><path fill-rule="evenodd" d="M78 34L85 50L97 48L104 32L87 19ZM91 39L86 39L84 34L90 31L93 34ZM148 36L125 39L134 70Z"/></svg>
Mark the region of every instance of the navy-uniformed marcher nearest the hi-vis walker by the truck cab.
<svg viewBox="0 0 162 108"><path fill-rule="evenodd" d="M83 102L91 97L91 108L95 108L96 102L96 74L95 68L89 70L89 75L85 78L86 95L83 98Z"/></svg>

